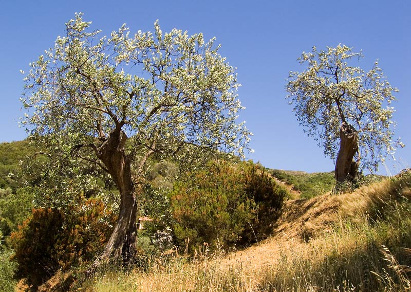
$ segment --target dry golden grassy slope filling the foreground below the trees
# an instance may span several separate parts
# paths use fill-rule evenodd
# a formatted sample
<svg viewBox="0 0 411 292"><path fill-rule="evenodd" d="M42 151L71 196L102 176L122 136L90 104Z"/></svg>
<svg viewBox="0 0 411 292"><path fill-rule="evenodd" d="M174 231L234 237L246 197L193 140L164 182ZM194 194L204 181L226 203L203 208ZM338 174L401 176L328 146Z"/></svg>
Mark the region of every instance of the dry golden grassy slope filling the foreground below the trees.
<svg viewBox="0 0 411 292"><path fill-rule="evenodd" d="M341 195L289 200L271 238L207 246L145 269L102 271L78 291L410 291L411 175Z"/></svg>

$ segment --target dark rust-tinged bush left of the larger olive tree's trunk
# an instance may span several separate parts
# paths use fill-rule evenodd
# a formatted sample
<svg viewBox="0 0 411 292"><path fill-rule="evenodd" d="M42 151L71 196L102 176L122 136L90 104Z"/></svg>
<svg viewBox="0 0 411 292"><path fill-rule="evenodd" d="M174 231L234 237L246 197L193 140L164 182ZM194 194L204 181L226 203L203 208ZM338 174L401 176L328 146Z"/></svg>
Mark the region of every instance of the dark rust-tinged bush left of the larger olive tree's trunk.
<svg viewBox="0 0 411 292"><path fill-rule="evenodd" d="M69 210L33 209L31 217L11 235L18 263L16 276L37 287L58 270L91 261L104 248L114 215L97 199Z"/></svg>

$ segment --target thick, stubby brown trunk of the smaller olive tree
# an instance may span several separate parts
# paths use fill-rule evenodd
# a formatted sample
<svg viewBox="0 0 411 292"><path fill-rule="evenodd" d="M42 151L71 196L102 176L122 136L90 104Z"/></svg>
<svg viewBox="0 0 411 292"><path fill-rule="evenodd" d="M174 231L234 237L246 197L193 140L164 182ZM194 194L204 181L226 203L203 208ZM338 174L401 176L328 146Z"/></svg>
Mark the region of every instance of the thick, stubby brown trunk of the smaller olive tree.
<svg viewBox="0 0 411 292"><path fill-rule="evenodd" d="M343 122L340 127L340 151L335 163L335 179L338 182L357 177L359 165L353 160L357 151L358 133L353 126Z"/></svg>

